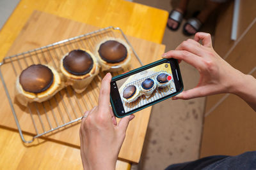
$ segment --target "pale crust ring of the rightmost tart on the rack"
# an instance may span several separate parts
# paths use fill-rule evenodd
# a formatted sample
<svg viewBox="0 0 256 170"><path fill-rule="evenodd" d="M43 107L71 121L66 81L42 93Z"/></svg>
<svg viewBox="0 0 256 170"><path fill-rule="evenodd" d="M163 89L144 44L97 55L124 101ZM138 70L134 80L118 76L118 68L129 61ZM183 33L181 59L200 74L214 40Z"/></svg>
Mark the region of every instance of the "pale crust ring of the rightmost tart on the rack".
<svg viewBox="0 0 256 170"><path fill-rule="evenodd" d="M116 63L110 63L110 62L106 62L105 60L103 60L100 55L99 55L99 48L100 45L102 45L102 43L106 42L106 41L118 41L119 43L122 43L122 45L125 46L126 50L127 50L127 57L122 60L121 62L116 62ZM97 43L97 45L95 46L95 50L94 50L94 54L95 57L97 57L97 60L102 68L102 71L120 71L122 68L125 68L127 66L129 66L129 62L131 60L131 48L130 46L123 40L120 38L112 38L112 37L106 37L103 38L99 41L99 43Z"/></svg>

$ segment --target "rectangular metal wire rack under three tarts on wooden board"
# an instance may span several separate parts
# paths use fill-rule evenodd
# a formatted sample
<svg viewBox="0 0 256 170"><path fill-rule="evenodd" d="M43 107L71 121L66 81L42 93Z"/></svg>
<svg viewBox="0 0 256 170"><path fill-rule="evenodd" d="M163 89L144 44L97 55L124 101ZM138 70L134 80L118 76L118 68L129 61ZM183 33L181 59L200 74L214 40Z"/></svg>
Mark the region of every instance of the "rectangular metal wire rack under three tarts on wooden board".
<svg viewBox="0 0 256 170"><path fill-rule="evenodd" d="M104 37L122 38L131 46L131 43L129 43L120 28L106 27L36 48L35 50L5 57L3 62L0 63L0 77L17 124L20 138L24 143L31 143L35 138L49 134L50 132L56 132L58 129L65 128L68 125L79 123L84 111L91 110L97 105L100 82L106 73L100 72L82 94L77 94L72 87L66 87L48 101L30 103L28 107L21 106L15 100L14 86L17 76L31 64L47 64L58 70L60 59L65 53L81 48L93 52L95 45ZM132 46L131 49L131 62L136 62L138 67L143 66ZM133 68L131 66L127 67L126 69L113 73L113 76L129 71L130 69ZM6 76L7 74L13 76ZM34 134L33 138L29 140L24 139L23 132Z"/></svg>

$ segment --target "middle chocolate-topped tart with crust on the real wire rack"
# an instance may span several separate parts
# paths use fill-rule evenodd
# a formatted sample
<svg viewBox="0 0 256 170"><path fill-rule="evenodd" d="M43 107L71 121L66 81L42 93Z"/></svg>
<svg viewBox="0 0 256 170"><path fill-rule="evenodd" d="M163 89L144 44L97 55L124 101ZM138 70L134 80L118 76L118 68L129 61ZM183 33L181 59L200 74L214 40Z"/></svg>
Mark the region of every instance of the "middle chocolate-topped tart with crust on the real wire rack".
<svg viewBox="0 0 256 170"><path fill-rule="evenodd" d="M81 93L99 73L99 64L89 50L77 49L62 57L60 70L65 78L65 85L71 85L77 93Z"/></svg>

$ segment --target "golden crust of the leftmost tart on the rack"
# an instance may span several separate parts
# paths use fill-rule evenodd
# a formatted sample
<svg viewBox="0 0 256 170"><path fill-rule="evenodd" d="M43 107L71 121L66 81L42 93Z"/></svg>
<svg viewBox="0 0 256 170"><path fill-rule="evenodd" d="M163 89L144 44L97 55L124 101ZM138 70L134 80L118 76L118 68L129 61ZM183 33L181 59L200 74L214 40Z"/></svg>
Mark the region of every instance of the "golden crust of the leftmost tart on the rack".
<svg viewBox="0 0 256 170"><path fill-rule="evenodd" d="M47 65L44 65L44 66L47 66ZM43 101L47 101L64 87L64 84L61 81L60 74L56 71L56 69L54 69L51 66L47 66L47 67L49 67L49 69L51 69L53 73L53 81L51 86L44 92L40 92L36 94L33 92L26 92L22 88L22 85L20 85L19 76L17 76L16 85L15 85L15 97L20 104L22 104L23 106L28 106L28 103L32 103L34 101L39 103Z"/></svg>

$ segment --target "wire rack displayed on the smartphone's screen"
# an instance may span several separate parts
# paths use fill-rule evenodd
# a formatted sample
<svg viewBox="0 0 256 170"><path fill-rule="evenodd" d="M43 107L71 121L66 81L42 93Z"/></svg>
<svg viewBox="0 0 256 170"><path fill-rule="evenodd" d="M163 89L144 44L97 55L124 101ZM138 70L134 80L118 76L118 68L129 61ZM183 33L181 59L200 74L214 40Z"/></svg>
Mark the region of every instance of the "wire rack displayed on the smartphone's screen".
<svg viewBox="0 0 256 170"><path fill-rule="evenodd" d="M167 73L167 72L165 72L165 73ZM127 87L129 85L136 85L137 87L140 88L141 83L145 79L152 78L153 80L155 80L157 74L159 74L159 73L150 74L149 76L145 76L139 80L127 83L125 85L125 87ZM167 74L169 74L169 73L167 73ZM124 89L125 89L125 87L124 87ZM136 101L134 101L132 103L125 103L123 99L122 99L122 103L123 103L125 111L131 111L136 108L140 108L141 106L144 106L145 104L156 101L157 99L160 99L164 96L168 96L169 94L172 94L173 92L175 92L175 85L174 85L174 81L172 80L172 83L170 83L170 85L168 85L167 87L164 87L164 88L157 88L156 90L154 90L154 92L148 98L145 97L144 95L142 95Z"/></svg>

